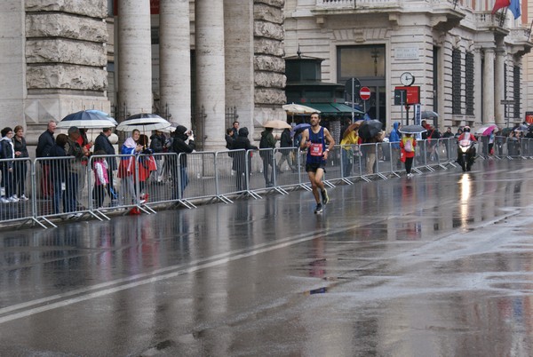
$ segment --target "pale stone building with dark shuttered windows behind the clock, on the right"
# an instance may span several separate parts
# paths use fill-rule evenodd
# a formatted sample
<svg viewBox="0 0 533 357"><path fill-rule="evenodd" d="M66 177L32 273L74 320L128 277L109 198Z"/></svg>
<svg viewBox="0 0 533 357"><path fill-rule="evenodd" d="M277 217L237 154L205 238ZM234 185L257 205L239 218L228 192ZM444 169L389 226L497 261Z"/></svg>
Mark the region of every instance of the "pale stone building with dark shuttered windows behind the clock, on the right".
<svg viewBox="0 0 533 357"><path fill-rule="evenodd" d="M406 123L394 105L402 74L415 78L422 110L443 126L522 121L528 108L522 59L530 51L523 15L491 14L494 1L288 0L285 51L324 59L322 77L351 77L371 91L370 116ZM506 100L501 104L502 100ZM410 119L412 120L412 119ZM410 122L412 123L412 122Z"/></svg>

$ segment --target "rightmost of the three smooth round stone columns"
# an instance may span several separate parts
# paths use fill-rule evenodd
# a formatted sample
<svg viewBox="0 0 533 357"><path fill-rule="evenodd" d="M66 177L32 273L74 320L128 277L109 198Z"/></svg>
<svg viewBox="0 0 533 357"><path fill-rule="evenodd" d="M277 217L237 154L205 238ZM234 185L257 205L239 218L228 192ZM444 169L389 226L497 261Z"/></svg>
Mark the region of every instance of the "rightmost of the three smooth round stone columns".
<svg viewBox="0 0 533 357"><path fill-rule="evenodd" d="M204 107L203 150L225 147L226 75L223 0L195 1L196 107ZM198 141L201 138L196 138Z"/></svg>

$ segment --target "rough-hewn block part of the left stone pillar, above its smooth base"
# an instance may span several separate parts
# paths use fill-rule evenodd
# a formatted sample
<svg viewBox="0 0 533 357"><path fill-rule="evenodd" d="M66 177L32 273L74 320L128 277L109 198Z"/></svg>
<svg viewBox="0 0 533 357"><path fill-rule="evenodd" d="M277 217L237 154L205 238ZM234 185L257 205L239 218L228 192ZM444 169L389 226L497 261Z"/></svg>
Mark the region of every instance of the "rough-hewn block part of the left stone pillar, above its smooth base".
<svg viewBox="0 0 533 357"><path fill-rule="evenodd" d="M26 2L29 93L106 91L106 10L105 0Z"/></svg>

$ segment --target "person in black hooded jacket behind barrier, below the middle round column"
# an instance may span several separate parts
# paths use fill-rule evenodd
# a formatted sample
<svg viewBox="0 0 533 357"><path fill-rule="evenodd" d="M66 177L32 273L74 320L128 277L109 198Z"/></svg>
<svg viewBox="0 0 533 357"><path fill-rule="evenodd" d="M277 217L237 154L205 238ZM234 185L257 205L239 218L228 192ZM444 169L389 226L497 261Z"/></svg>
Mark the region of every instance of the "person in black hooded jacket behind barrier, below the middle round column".
<svg viewBox="0 0 533 357"><path fill-rule="evenodd" d="M195 150L195 137L193 131L187 130L183 125L178 125L174 131L172 140L172 151L179 155L179 163L174 162L172 178L174 179L174 197L178 199L183 197L183 192L188 184L187 177L187 155ZM180 155L181 154L181 155Z"/></svg>

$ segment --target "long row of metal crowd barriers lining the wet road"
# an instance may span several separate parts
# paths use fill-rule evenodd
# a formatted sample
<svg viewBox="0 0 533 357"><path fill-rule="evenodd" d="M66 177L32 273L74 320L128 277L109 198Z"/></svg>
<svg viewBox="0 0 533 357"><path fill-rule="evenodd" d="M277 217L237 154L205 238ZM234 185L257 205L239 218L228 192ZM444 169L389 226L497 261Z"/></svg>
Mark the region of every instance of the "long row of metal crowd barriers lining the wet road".
<svg viewBox="0 0 533 357"><path fill-rule="evenodd" d="M455 166L456 143L454 138L418 140L413 171ZM482 139L478 157L533 155L532 139L497 137L490 147L493 154L488 141ZM97 178L104 160L106 175ZM311 190L305 166L306 153L297 147L187 155L91 155L85 163L73 157L4 159L0 160L0 225L30 222L46 228L66 219L103 220L111 214L152 214L171 206L194 209L197 202L232 203L242 197L260 199L271 192ZM9 167L13 170L6 170ZM394 143L336 145L323 179L327 186L352 185L357 180L399 177L402 171L400 149Z"/></svg>

